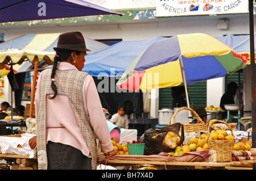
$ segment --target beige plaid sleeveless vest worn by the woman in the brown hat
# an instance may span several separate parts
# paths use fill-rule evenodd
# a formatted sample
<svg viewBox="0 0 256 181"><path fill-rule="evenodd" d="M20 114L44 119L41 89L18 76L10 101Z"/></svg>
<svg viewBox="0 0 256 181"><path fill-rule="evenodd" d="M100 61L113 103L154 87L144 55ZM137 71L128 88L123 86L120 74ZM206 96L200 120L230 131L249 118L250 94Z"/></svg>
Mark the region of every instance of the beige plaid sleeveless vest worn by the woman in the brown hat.
<svg viewBox="0 0 256 181"><path fill-rule="evenodd" d="M46 153L46 95L54 94L51 89L51 69L46 69L40 74L39 85L39 112L37 120L37 155L38 169L47 169ZM90 124L90 117L86 114L84 108L84 97L82 96L82 86L87 73L75 70L56 70L55 79L58 94L66 95L76 116L77 123L84 135L86 144L92 155L92 169L97 167L97 142L96 134L93 132ZM64 158L65 159L65 158Z"/></svg>

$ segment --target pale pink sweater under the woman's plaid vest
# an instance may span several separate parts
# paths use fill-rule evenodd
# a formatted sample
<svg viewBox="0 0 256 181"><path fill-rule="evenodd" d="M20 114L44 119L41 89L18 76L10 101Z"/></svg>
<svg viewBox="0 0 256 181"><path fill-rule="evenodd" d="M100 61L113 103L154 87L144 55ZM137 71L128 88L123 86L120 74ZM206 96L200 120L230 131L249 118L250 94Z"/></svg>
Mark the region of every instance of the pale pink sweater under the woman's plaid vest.
<svg viewBox="0 0 256 181"><path fill-rule="evenodd" d="M68 62L60 62L57 65L60 70L76 69L75 66ZM40 83L40 77L37 85ZM96 85L91 75L87 75L83 86L85 111L90 116L90 122L93 130L101 142L101 148L104 152L113 150L112 141ZM39 90L39 89L37 89ZM55 99L46 99L46 137L47 141L60 142L61 144L70 145L82 151L88 157L91 157L84 136L72 112L69 100L65 95L57 95ZM39 92L35 94L36 119L38 117Z"/></svg>

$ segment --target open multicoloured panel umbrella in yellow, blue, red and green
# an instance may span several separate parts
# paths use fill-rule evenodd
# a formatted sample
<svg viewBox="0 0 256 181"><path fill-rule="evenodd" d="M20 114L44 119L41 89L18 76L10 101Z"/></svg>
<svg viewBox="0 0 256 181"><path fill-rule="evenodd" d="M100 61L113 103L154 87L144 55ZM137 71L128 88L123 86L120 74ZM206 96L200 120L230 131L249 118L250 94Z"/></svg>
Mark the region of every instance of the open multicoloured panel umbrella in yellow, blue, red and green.
<svg viewBox="0 0 256 181"><path fill-rule="evenodd" d="M233 74L245 68L247 61L204 33L176 35L156 41L135 58L117 85L119 89L147 91L184 82L187 91L187 84Z"/></svg>

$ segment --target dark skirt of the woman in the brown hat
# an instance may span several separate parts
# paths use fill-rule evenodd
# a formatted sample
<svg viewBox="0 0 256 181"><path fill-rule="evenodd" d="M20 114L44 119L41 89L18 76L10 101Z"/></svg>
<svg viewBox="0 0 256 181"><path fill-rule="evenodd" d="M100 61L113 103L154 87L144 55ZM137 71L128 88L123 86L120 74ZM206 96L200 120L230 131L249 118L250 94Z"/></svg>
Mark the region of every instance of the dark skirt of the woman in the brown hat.
<svg viewBox="0 0 256 181"><path fill-rule="evenodd" d="M48 170L91 170L92 158L69 145L48 141L47 168Z"/></svg>

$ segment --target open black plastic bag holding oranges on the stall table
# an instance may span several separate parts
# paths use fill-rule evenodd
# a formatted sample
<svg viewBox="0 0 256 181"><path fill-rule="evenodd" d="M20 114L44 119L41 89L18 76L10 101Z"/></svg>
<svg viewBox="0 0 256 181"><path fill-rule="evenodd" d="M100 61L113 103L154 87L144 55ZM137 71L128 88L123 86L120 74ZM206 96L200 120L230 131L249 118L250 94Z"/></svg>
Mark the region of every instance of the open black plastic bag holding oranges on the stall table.
<svg viewBox="0 0 256 181"><path fill-rule="evenodd" d="M181 127L181 135L180 135L180 127ZM180 143L177 146L180 146L184 141L184 127L181 123L175 123L171 125L167 125L163 128L150 128L147 129L144 134L141 136L140 141L145 144L144 155L152 155L159 154L160 152L170 152L175 149L171 149L168 146L163 145L164 137L168 132L174 132L178 137L180 137ZM160 134L161 133L161 134ZM152 138L152 136L156 136Z"/></svg>

